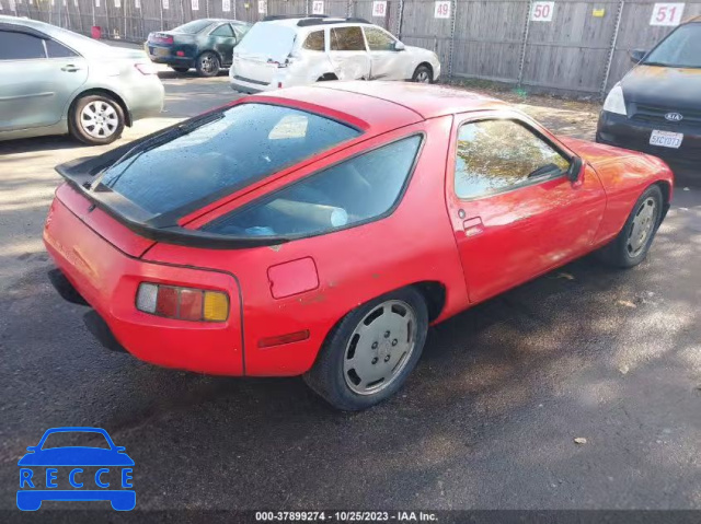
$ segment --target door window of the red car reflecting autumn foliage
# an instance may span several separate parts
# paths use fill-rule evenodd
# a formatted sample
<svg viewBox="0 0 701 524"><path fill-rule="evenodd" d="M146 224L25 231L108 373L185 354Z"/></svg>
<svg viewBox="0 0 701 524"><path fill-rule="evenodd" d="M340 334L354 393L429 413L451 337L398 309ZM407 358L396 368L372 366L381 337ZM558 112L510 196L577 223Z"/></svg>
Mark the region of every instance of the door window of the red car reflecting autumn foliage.
<svg viewBox="0 0 701 524"><path fill-rule="evenodd" d="M514 120L464 124L458 133L455 190L476 198L563 175L570 160Z"/></svg>

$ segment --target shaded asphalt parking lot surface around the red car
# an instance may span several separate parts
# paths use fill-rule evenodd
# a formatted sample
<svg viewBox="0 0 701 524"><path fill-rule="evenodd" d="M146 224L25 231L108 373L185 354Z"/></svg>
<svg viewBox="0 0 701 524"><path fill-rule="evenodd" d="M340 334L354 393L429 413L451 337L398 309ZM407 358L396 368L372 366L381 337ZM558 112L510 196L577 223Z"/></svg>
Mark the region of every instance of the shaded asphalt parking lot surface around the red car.
<svg viewBox="0 0 701 524"><path fill-rule="evenodd" d="M235 96L226 75L162 79L165 113L123 140ZM593 136L594 104L520 104ZM0 509L25 447L59 426L126 446L140 510L701 509L698 188L677 188L641 266L579 260L449 319L399 395L348 415L300 379L202 376L100 347L49 286L41 242L54 165L100 151L0 143Z"/></svg>

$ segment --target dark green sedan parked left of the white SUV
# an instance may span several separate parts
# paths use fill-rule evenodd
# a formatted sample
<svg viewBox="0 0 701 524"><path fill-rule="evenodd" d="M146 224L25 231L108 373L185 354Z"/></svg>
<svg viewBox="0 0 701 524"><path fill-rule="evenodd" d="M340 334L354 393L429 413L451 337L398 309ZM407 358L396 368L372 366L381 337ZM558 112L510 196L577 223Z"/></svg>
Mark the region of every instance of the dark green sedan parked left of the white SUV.
<svg viewBox="0 0 701 524"><path fill-rule="evenodd" d="M153 62L181 73L195 68L200 77L215 77L231 66L233 48L250 28L251 24L237 20L193 20L171 31L150 33L143 47Z"/></svg>

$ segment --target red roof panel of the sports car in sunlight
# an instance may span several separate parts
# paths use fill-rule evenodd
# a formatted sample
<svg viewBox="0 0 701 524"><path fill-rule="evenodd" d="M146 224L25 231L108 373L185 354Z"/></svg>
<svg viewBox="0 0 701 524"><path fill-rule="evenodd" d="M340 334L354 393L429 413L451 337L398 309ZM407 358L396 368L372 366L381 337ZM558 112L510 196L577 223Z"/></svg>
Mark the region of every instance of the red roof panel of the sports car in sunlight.
<svg viewBox="0 0 701 524"><path fill-rule="evenodd" d="M321 102L320 95L324 92L331 92L331 96L323 96ZM347 93L347 96L338 96L341 92ZM315 103L349 115L357 115L370 127L383 127L388 117L394 118L402 115L403 119L407 118L407 112L415 115L418 120L423 120L456 113L509 107L499 100L470 91L409 82L320 82L307 88L294 88L271 94L310 103L320 101ZM363 110L366 105L372 105L372 110Z"/></svg>

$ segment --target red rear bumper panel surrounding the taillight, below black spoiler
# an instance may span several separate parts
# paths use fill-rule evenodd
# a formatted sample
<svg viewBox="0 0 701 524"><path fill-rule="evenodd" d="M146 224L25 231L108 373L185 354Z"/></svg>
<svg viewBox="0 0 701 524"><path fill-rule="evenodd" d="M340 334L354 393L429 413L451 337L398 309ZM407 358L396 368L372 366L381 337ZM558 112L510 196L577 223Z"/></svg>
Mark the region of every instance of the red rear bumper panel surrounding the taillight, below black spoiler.
<svg viewBox="0 0 701 524"><path fill-rule="evenodd" d="M66 184L56 193L44 242L58 268L135 357L171 368L187 362L188 370L211 374L243 374L241 301L233 275L140 259L153 242ZM200 323L142 313L136 293L143 281L225 291L228 319Z"/></svg>

